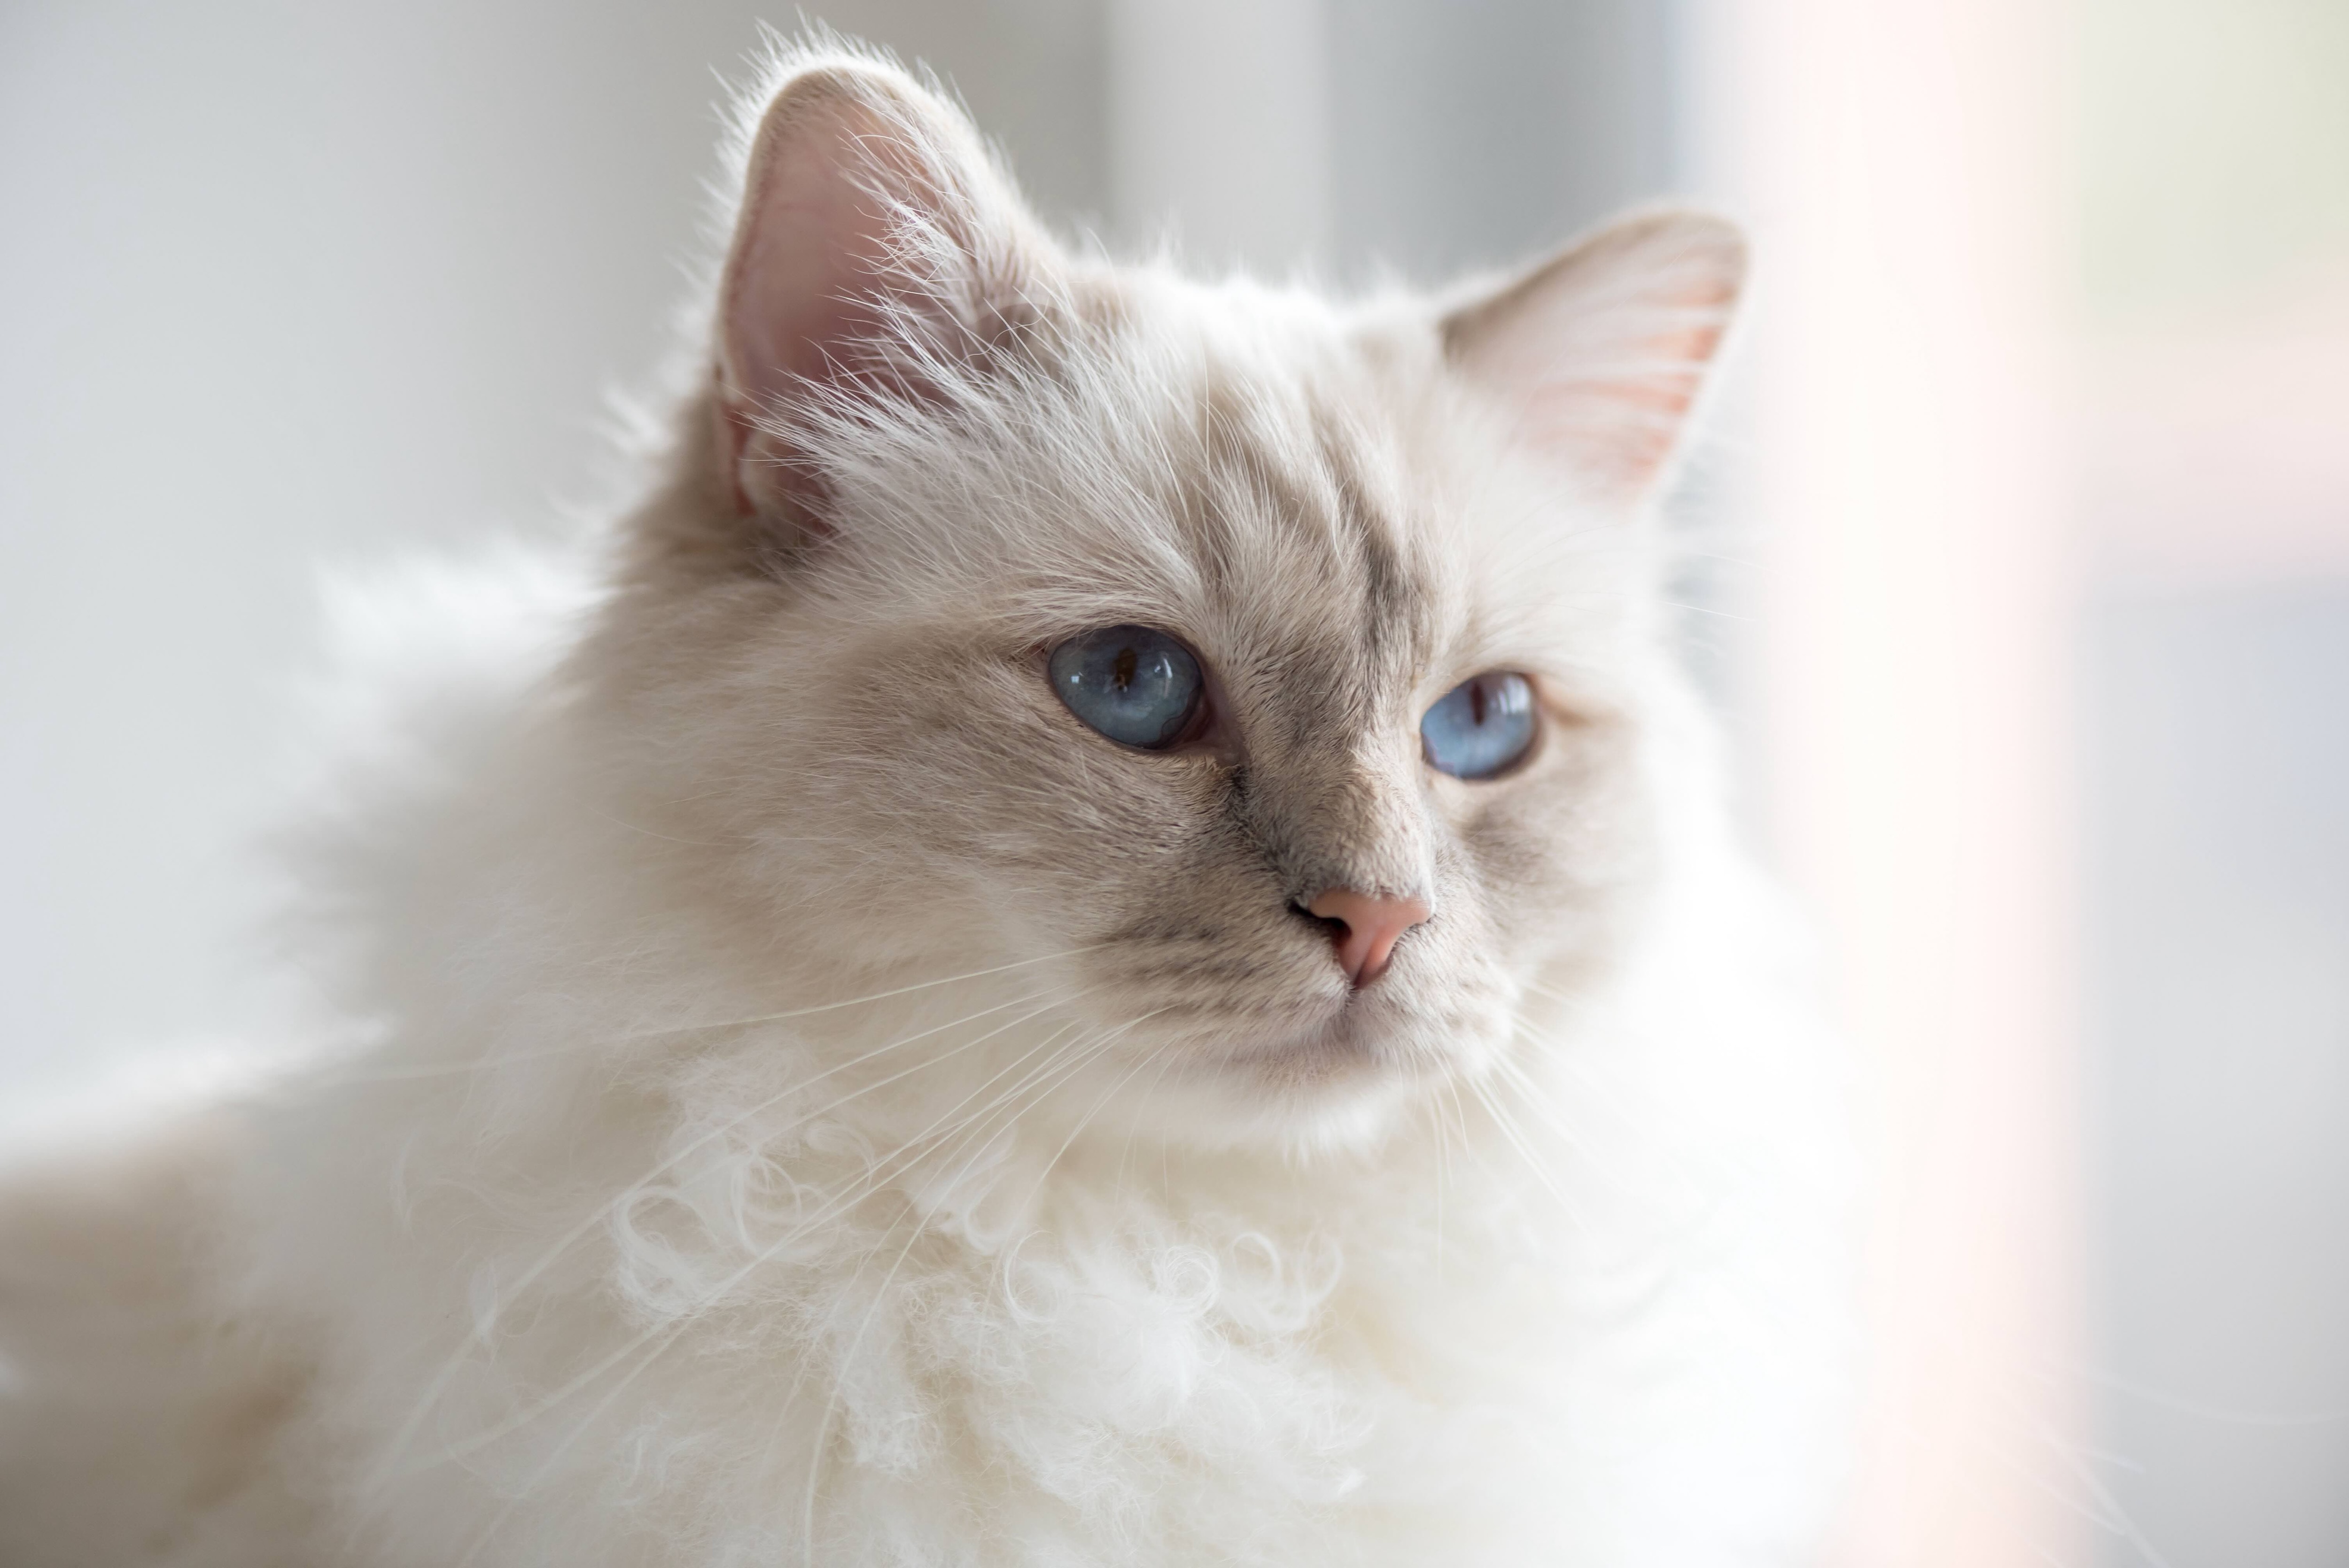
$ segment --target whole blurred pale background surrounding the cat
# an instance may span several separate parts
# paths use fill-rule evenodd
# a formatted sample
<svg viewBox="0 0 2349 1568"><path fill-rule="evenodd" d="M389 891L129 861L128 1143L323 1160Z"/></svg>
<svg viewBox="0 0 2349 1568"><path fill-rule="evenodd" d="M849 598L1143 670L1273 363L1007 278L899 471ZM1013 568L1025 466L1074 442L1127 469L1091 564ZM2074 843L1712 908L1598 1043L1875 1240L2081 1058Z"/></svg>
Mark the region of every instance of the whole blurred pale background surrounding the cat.
<svg viewBox="0 0 2349 1568"><path fill-rule="evenodd" d="M1748 216L1691 653L1875 1068L1839 1561L2349 1561L2349 7L810 12L1210 265ZM597 505L756 19L0 0L0 1108L251 1028L315 570Z"/></svg>

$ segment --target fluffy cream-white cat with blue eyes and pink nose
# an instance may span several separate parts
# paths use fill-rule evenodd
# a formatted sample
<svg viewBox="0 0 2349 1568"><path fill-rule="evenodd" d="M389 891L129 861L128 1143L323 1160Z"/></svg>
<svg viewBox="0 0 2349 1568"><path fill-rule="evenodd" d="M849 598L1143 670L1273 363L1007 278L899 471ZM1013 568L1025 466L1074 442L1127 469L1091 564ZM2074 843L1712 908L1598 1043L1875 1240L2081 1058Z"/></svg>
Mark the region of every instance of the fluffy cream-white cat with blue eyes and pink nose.
<svg viewBox="0 0 2349 1568"><path fill-rule="evenodd" d="M1743 242L1442 296L745 99L641 502L341 608L334 1045L0 1197L0 1559L1797 1563L1851 1181L1656 495Z"/></svg>

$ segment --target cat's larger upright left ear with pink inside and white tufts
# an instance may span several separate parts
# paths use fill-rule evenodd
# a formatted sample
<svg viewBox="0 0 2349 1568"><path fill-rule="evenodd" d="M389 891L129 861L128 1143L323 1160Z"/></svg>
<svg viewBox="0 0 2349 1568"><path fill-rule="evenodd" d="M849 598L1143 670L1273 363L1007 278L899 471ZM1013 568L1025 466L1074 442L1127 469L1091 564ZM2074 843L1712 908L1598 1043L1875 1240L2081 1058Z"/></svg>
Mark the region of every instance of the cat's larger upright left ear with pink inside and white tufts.
<svg viewBox="0 0 2349 1568"><path fill-rule="evenodd" d="M714 437L735 512L824 533L794 418L935 397L1034 312L1052 242L970 120L881 61L803 61L749 141L719 284Z"/></svg>

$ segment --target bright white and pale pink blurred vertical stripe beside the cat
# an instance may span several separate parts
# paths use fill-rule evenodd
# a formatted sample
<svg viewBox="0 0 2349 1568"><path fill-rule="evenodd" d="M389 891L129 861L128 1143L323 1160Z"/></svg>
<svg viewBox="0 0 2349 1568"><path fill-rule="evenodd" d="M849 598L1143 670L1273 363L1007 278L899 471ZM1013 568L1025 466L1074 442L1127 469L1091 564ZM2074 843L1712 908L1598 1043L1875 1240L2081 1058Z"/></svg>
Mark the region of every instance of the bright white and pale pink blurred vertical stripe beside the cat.
<svg viewBox="0 0 2349 1568"><path fill-rule="evenodd" d="M1870 1068L1867 1425L1835 1563L2079 1561L2060 31L1717 0L1778 852Z"/></svg>

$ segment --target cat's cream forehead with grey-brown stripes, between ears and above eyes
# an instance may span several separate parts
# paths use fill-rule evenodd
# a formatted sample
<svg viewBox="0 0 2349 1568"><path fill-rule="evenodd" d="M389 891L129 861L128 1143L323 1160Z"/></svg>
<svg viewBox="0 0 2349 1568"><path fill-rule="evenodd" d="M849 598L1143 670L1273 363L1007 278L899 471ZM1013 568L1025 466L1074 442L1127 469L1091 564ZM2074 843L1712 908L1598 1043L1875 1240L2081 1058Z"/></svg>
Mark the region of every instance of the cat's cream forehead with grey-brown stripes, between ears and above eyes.
<svg viewBox="0 0 2349 1568"><path fill-rule="evenodd" d="M1576 636L1590 552L1557 545L1583 526L1494 448L1423 312L1165 286L1123 300L1092 350L1083 401L1109 415L1062 444L1073 484L1036 533L1059 552L1036 580L1090 563L1111 599L1156 596L1233 653L1395 678Z"/></svg>

